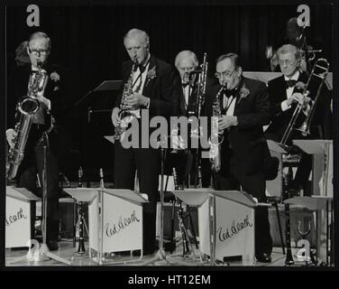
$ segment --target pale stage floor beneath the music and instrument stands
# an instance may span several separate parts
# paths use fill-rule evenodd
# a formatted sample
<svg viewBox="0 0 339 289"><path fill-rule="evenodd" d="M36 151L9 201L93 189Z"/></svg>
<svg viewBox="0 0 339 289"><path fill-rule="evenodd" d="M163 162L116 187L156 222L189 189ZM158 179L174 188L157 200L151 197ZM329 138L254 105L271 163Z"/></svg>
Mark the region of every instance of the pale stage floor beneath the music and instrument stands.
<svg viewBox="0 0 339 289"><path fill-rule="evenodd" d="M87 242L85 243L85 248L88 248ZM73 247L72 240L61 240L59 242L59 250L52 251L50 253L60 256L63 259L71 261L71 266L100 266L94 260L88 257L87 252L85 254L75 253L78 250L78 242L76 247ZM28 261L26 258L27 249L6 249L5 250L5 266L68 266L66 264L60 263L54 259L46 259L41 261ZM140 257L133 256L114 256L110 258L107 262L115 262L115 264L103 264L101 266L210 266L208 262L201 262L199 256L199 251L195 252L197 259L194 259L194 255L191 254L188 258L182 257L182 247L179 246L173 252L173 254L166 253L166 260L159 258L157 260L155 257L158 256L157 252L153 255ZM272 252L272 262L271 263L261 263L252 261L243 261L239 258L227 259L227 263L221 263L217 266L285 266L286 256L282 254L281 247L274 247ZM133 262L131 262L133 261ZM152 262L153 261L153 262ZM151 264L148 264L151 262ZM146 264L145 264L146 263Z"/></svg>

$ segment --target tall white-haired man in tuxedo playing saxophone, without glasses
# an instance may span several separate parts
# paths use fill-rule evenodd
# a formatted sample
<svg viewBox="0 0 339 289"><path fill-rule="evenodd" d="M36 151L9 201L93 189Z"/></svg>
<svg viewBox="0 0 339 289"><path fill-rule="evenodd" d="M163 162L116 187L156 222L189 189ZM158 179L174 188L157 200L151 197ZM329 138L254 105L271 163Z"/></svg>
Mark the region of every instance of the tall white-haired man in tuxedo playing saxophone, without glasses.
<svg viewBox="0 0 339 289"><path fill-rule="evenodd" d="M115 189L134 189L135 172L137 171L140 191L148 195L149 203L143 207L143 254L155 250L156 196L159 187L160 151L151 145L142 147L142 134L150 139L151 132L142 130L142 112L151 117L179 115L179 84L177 74L172 67L150 52L150 37L139 29L132 29L124 36L124 47L131 58L122 65L123 87L112 111L112 122L119 127L122 119L122 99L124 107L139 122L137 138L138 148L124 148L124 134L115 142ZM137 61L134 69L133 60ZM130 81L129 81L130 79ZM131 88L124 89L130 82ZM133 93L125 95L124 91ZM143 111L142 111L143 110ZM145 138L145 137L144 137Z"/></svg>

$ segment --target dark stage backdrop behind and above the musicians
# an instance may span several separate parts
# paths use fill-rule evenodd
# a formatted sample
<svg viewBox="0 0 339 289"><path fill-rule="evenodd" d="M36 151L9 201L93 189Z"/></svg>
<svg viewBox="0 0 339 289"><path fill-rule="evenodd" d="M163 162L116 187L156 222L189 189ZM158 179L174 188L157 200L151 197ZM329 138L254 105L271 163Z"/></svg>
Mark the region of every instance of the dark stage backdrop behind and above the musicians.
<svg viewBox="0 0 339 289"><path fill-rule="evenodd" d="M298 16L293 5L221 5L199 2L199 5L39 5L40 27L28 27L27 5L6 7L7 74L15 65L15 48L36 31L48 33L52 42L50 61L69 70L71 102L76 104L88 91L105 79L120 79L124 34L137 27L151 38L151 53L169 63L179 51L191 50L202 61L207 52L209 72L214 73L215 58L225 52L240 54L243 70L269 71L267 45L277 47L285 38L286 23ZM31 3L32 4L32 3ZM305 4L305 3L303 3ZM332 7L309 5L311 27L307 40L317 57L332 61ZM98 168L104 167L105 181L113 181L113 144L103 135L113 135L108 112L115 92L93 93L68 112L69 126L63 132L72 154L60 160L63 171L76 178L78 165L87 179L98 179ZM94 113L87 121L87 107ZM78 151L78 154L73 154Z"/></svg>

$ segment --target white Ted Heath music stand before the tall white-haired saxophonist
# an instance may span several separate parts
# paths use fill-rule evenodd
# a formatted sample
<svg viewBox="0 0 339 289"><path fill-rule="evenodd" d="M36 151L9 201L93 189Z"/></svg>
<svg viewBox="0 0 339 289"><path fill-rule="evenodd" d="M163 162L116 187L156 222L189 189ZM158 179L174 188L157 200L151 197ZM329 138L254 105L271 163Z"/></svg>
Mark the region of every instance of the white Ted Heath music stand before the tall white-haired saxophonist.
<svg viewBox="0 0 339 289"><path fill-rule="evenodd" d="M142 198L142 196L134 191L120 190L120 189L105 189L105 188L76 188L76 189L64 189L74 199L82 202L89 203L88 206L88 222L89 222L89 257L93 259L97 264L118 264L127 262L139 261L139 259L121 259L115 261L106 261L104 252L107 249L111 249L109 253L120 252L126 250L142 250L142 203L148 202ZM118 208L124 210L127 205L130 206L131 210L135 210L135 219L139 218L139 224L131 221L128 226L129 233L127 233L127 226L120 228L117 225L117 230L113 225L118 222L121 217L122 222L124 221L123 216L118 216L120 212L117 212ZM105 207L109 207L107 210ZM120 210L120 211L121 211ZM112 212L115 213L112 216ZM131 217L131 215L129 215ZM131 218L132 219L132 218ZM130 220L131 220L130 219ZM107 224L112 225L111 227ZM124 224L123 224L124 225ZM104 229L105 227L105 229ZM118 228L119 227L119 228ZM104 232L105 231L105 232ZM106 232L110 232L110 236L107 237ZM126 237L131 240L131 234L140 233L139 237L133 238L132 244L126 244ZM118 234L124 234L123 238L119 238ZM128 235L126 235L128 234ZM116 242L116 243L115 243ZM93 256L93 257L92 257ZM120 257L120 256L119 256Z"/></svg>

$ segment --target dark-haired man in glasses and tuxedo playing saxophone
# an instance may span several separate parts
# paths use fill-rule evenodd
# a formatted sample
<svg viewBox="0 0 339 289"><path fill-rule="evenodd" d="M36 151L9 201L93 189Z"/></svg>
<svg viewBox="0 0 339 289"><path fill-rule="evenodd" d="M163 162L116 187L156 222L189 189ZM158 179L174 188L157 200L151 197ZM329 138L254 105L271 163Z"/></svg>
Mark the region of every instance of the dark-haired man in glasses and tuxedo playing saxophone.
<svg viewBox="0 0 339 289"><path fill-rule="evenodd" d="M267 142L262 126L270 121L270 102L264 83L243 77L235 53L219 56L215 77L219 83L207 91L206 116L220 111L218 129L223 131L221 169L215 173L215 190L246 191L260 202L266 201L264 159ZM215 109L215 98L219 109ZM255 256L270 262L272 239L267 207L255 210Z"/></svg>

